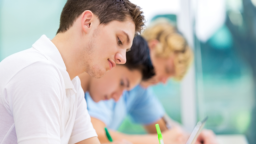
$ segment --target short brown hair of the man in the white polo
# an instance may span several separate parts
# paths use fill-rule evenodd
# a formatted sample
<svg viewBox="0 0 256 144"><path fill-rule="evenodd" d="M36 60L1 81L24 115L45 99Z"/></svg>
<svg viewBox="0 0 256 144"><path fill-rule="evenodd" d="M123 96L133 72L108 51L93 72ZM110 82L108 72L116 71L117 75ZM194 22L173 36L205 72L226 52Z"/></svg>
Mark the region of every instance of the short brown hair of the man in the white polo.
<svg viewBox="0 0 256 144"><path fill-rule="evenodd" d="M129 0L67 0L60 15L57 33L66 32L85 10L92 11L100 24L108 24L113 20L124 22L128 16L135 23L136 34L145 27L141 8Z"/></svg>

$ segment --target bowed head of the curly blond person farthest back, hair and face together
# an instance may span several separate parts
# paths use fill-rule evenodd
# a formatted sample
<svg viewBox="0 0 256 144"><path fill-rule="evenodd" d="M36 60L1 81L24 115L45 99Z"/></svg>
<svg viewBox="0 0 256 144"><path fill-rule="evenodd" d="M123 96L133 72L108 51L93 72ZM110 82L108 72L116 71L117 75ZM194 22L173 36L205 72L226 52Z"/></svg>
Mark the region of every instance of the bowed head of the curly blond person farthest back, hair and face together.
<svg viewBox="0 0 256 144"><path fill-rule="evenodd" d="M193 60L192 49L184 37L165 21L155 22L142 36L148 42L150 58L158 73L154 79L151 79L151 83L144 82L142 85L147 87L159 82L166 83L170 77L180 81Z"/></svg>

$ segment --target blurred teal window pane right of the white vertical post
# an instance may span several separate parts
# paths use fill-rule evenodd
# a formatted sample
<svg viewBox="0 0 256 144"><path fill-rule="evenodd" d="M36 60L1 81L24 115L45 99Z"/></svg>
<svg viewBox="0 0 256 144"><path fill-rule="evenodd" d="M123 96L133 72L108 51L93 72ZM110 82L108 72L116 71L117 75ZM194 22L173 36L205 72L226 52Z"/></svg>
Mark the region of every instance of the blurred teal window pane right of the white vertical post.
<svg viewBox="0 0 256 144"><path fill-rule="evenodd" d="M247 134L255 143L254 0L227 0L225 21L204 41L195 33L198 117L217 134ZM250 131L248 129L250 128Z"/></svg>

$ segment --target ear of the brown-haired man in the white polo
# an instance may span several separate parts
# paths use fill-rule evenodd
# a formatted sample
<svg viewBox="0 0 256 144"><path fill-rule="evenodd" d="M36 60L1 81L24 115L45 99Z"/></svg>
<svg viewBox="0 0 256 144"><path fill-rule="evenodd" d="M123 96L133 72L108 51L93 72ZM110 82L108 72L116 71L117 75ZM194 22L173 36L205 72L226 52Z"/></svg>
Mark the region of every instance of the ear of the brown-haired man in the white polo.
<svg viewBox="0 0 256 144"><path fill-rule="evenodd" d="M94 19L94 14L90 10L85 10L81 16L81 25L85 33L91 28L91 23Z"/></svg>

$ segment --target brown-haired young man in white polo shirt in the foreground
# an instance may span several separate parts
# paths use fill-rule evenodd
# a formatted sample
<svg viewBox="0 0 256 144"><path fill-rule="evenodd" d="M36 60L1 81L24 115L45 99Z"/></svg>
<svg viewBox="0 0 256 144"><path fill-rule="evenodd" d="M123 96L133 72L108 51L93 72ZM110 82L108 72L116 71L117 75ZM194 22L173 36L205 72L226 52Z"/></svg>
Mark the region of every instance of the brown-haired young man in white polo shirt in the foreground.
<svg viewBox="0 0 256 144"><path fill-rule="evenodd" d="M0 143L99 144L77 75L126 61L144 26L128 0L68 0L57 35L0 62Z"/></svg>

